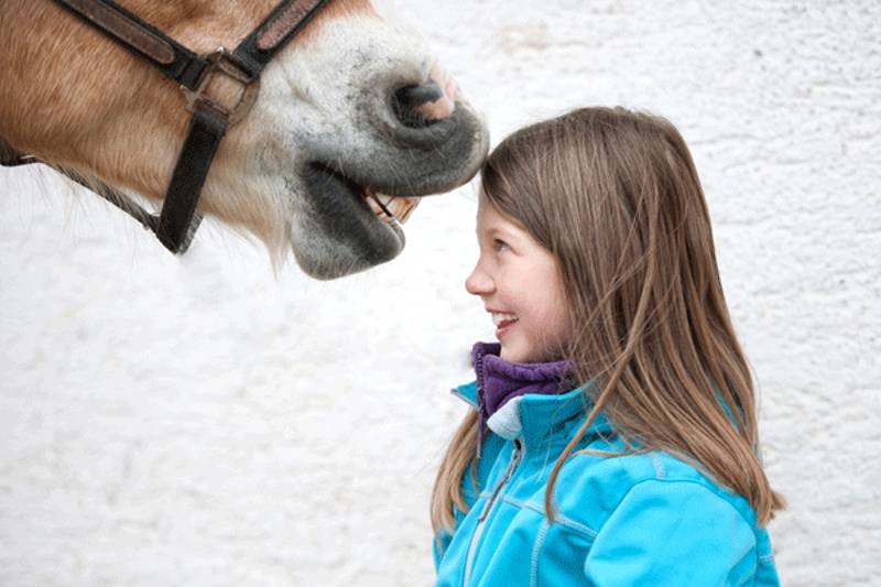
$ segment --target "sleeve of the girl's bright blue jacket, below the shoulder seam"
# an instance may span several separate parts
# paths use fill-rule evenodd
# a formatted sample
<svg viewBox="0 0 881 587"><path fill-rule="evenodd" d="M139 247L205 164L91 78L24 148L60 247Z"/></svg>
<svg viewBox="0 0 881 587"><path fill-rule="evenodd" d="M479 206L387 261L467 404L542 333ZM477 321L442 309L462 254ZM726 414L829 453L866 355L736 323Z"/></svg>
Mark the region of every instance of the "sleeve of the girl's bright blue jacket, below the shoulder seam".
<svg viewBox="0 0 881 587"><path fill-rule="evenodd" d="M755 534L722 497L692 481L634 485L587 555L587 584L741 585L755 573Z"/></svg>

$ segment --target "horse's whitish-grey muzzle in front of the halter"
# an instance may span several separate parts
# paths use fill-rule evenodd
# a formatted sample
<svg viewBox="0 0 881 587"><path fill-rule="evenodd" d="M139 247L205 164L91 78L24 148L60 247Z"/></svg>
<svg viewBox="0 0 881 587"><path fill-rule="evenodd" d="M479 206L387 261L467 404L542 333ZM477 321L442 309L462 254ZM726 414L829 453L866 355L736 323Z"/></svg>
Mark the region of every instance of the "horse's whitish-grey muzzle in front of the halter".
<svg viewBox="0 0 881 587"><path fill-rule="evenodd" d="M264 70L253 110L218 151L203 207L248 228L275 260L293 250L307 274L334 279L393 259L404 238L323 170L383 194L425 196L469 181L488 135L446 79L437 79L444 98L426 108L443 119L417 129L395 119L394 90L437 77L415 32L372 11L309 32Z"/></svg>

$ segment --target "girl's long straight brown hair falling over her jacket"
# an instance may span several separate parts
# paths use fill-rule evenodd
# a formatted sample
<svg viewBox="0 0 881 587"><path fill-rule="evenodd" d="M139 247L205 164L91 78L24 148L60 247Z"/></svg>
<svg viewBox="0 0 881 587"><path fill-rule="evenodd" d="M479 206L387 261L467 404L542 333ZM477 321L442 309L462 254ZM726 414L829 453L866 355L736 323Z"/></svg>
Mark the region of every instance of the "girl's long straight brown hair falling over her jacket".
<svg viewBox="0 0 881 587"><path fill-rule="evenodd" d="M481 193L558 261L574 335L561 352L592 409L551 474L602 411L639 450L674 454L743 496L765 524L784 507L757 455L752 377L722 295L707 205L692 155L667 120L583 108L508 137L481 172ZM732 425L733 424L733 425ZM469 413L432 496L435 533L467 511L474 465ZM474 475L474 467L471 467Z"/></svg>

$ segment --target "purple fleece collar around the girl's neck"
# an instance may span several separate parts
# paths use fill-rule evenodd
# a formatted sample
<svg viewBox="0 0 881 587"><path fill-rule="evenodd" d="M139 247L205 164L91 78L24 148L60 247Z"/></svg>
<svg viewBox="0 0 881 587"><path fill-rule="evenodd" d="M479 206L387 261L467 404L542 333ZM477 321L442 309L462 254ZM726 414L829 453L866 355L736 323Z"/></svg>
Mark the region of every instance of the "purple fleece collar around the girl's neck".
<svg viewBox="0 0 881 587"><path fill-rule="evenodd" d="M478 455L483 444L487 421L513 398L526 393L545 395L568 391L569 369L566 361L512 362L502 359L498 343L477 343L471 349L471 361L477 373L477 403L480 414L478 427Z"/></svg>

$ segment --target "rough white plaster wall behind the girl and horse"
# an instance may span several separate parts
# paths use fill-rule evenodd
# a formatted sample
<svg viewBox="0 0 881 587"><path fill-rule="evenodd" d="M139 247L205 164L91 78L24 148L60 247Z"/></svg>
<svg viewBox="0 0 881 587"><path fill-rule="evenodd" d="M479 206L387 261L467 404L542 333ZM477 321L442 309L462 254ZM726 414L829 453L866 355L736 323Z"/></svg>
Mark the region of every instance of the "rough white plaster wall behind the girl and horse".
<svg viewBox="0 0 881 587"><path fill-rule="evenodd" d="M493 143L585 104L692 145L762 394L787 585L881 575L881 8L384 2ZM48 173L0 171L0 585L429 585L428 491L492 336L472 187L334 283L208 227L184 259Z"/></svg>

